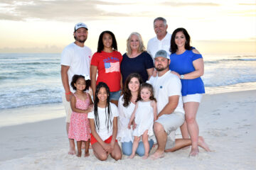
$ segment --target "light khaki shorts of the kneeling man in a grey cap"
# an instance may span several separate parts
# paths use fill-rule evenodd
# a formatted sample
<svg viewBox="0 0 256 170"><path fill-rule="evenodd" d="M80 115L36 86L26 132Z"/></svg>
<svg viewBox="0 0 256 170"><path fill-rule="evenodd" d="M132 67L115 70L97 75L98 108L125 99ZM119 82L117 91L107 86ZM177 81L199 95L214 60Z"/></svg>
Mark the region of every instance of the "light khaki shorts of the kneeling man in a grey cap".
<svg viewBox="0 0 256 170"><path fill-rule="evenodd" d="M157 123L160 123L167 133L167 142L165 149L171 149L175 145L175 132L184 123L184 113L171 113L169 115L161 115Z"/></svg>

